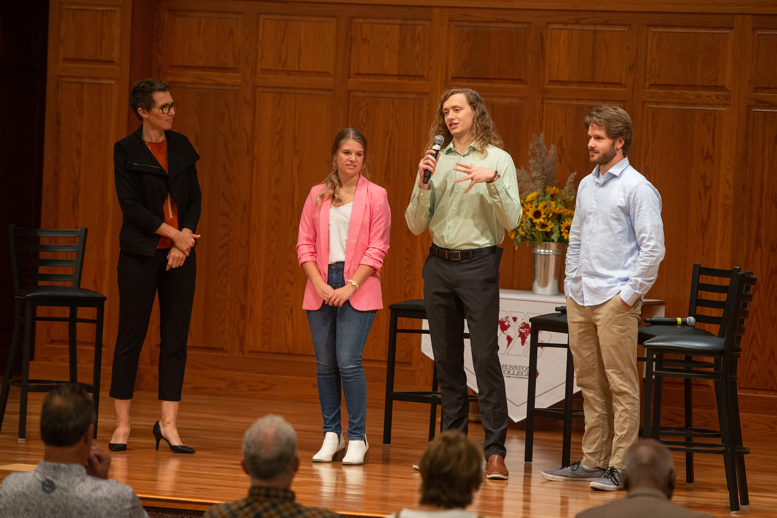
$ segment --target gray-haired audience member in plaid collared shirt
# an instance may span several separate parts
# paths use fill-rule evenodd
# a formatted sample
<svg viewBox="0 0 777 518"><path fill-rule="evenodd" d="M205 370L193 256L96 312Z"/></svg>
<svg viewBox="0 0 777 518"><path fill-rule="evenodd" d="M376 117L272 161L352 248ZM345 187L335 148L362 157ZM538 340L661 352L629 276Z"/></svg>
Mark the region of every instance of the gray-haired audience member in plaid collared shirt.
<svg viewBox="0 0 777 518"><path fill-rule="evenodd" d="M299 469L297 433L280 415L265 415L243 437L242 468L251 477L248 496L217 504L204 518L269 516L271 518L342 518L326 509L294 502L291 481Z"/></svg>

